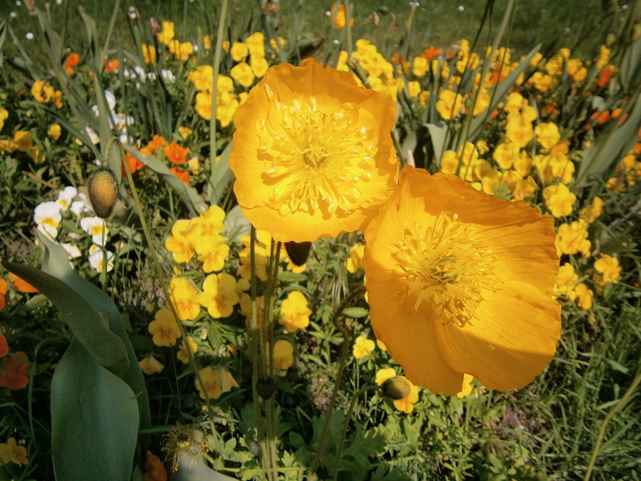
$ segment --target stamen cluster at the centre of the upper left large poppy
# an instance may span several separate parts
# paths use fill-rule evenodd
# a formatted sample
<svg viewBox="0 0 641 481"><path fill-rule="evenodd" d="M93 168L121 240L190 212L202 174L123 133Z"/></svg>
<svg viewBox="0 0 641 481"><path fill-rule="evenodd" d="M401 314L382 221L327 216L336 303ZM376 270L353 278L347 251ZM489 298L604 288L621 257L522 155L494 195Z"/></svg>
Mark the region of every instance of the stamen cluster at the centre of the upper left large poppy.
<svg viewBox="0 0 641 481"><path fill-rule="evenodd" d="M374 130L363 126L370 114L353 103L320 107L313 96L285 104L269 85L265 89L269 112L256 125L263 178L273 186L265 203L281 215L360 207L378 151Z"/></svg>

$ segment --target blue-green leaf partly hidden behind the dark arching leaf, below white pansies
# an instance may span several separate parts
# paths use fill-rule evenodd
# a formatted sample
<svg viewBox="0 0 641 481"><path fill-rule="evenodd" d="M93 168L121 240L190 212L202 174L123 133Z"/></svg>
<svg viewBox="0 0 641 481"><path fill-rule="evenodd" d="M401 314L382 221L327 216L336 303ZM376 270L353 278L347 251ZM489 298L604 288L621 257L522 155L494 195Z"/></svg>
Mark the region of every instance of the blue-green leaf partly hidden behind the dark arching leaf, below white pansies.
<svg viewBox="0 0 641 481"><path fill-rule="evenodd" d="M138 406L140 407L140 426L143 429L148 428L151 425L151 414L149 413L147 387L142 371L140 371L140 366L136 362L136 353L133 351L129 336L124 329L124 325L122 325L118 308L107 294L71 269L65 249L59 244L47 240L43 235L38 235L38 241L43 251L42 270L67 283L72 289L79 292L81 296L90 300L92 306L98 312L107 314L109 328L124 344L129 359L129 365L122 374L122 379L135 392ZM141 443L144 449L146 449L145 444L148 441L148 436L142 437Z"/></svg>

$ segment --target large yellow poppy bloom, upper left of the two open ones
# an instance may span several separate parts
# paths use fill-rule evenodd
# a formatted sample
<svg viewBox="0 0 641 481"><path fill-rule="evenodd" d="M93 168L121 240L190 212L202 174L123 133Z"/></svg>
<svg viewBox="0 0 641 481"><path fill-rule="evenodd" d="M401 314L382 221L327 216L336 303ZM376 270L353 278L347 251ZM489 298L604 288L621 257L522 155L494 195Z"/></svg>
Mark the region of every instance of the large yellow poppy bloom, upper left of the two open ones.
<svg viewBox="0 0 641 481"><path fill-rule="evenodd" d="M363 228L394 190L392 98L351 74L281 63L235 114L234 192L257 229L315 241Z"/></svg>

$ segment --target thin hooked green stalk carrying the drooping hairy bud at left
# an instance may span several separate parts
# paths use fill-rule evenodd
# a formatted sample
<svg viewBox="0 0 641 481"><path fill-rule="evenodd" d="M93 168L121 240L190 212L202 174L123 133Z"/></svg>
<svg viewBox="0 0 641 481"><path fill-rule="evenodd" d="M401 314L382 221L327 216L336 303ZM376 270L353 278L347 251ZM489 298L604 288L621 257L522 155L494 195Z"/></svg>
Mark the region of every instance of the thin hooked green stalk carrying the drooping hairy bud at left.
<svg viewBox="0 0 641 481"><path fill-rule="evenodd" d="M145 234L145 239L147 241L147 244L149 244L149 250L151 251L151 259L153 260L154 267L156 269L156 276L158 277L158 280L160 281L160 287L162 288L162 292L165 296L165 300L167 300L167 304L169 305L169 308L171 310L171 313L174 316L174 320L176 321L176 325L178 325L178 329L180 330L180 334L183 337L185 341L185 351L187 352L187 357L189 358L189 365L192 367L194 370L194 375L196 375L196 382L198 383L198 386L200 387L201 391L203 391L204 395L204 402L207 406L207 413L209 416L209 423L210 423L210 428L212 429L213 437L215 439L216 443L216 450L219 452L219 454L222 457L222 444L221 444L221 439L218 431L216 430L216 426L213 422L214 419L214 413L212 409L212 401L209 398L209 394L207 392L207 389L204 385L203 379L201 378L200 373L198 372L198 365L196 364L196 359L194 359L194 353L192 353L192 350L188 347L188 342L187 342L187 331L185 330L185 326L183 326L183 323L181 323L179 317L178 317L178 312L176 311L176 307L174 306L174 303L171 300L171 296L169 295L169 291L167 291L167 283L165 282L165 273L162 270L162 267L160 267L160 262L158 262L158 252L156 251L156 248L154 247L153 240L151 239L151 235L149 234L149 228L147 228L147 221L145 220L144 212L142 212L142 205L140 205L140 198L138 198L138 190L136 189L136 186L133 183L133 177L131 176L131 169L129 169L129 162L127 162L126 154L124 151L124 148L122 147L121 141L118 139L118 137L112 137L109 139L107 142L107 147L106 151L109 151L111 144L115 142L116 145L118 146L118 149L120 151L121 155L121 162L124 164L125 171L127 173L127 180L129 181L129 187L131 188L131 196L133 197L133 202L136 205L136 209L138 211L138 216L140 217L140 225L142 226L142 231Z"/></svg>

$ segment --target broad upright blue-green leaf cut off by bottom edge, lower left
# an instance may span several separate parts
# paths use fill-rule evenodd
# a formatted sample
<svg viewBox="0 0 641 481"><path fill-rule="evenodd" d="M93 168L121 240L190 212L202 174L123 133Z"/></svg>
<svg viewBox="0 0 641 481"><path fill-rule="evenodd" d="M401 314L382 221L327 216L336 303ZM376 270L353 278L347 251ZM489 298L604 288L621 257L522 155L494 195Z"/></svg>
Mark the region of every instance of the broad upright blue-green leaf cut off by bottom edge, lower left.
<svg viewBox="0 0 641 481"><path fill-rule="evenodd" d="M128 480L138 437L135 394L77 338L51 380L51 455L59 481Z"/></svg>

